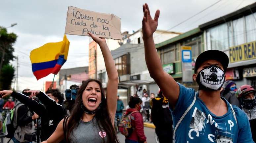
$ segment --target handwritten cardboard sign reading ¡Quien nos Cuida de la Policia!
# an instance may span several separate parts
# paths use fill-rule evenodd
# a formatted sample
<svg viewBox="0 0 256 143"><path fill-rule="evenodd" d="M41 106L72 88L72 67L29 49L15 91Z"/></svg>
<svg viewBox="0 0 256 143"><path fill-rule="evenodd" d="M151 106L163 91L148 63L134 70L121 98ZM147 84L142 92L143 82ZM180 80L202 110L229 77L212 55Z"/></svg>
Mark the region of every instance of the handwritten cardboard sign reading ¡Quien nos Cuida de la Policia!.
<svg viewBox="0 0 256 143"><path fill-rule="evenodd" d="M121 21L114 14L92 12L69 6L65 34L122 39Z"/></svg>

